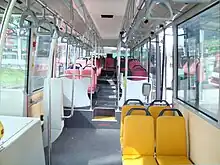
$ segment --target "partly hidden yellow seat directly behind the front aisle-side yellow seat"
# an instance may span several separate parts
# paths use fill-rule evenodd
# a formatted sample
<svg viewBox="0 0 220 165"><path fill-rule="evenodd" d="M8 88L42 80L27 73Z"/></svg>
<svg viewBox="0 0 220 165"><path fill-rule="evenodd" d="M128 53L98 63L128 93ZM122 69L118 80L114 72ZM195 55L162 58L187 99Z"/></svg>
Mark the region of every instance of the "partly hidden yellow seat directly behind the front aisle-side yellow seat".
<svg viewBox="0 0 220 165"><path fill-rule="evenodd" d="M127 112L131 109L131 108L144 108L143 105L124 105L122 107L121 110L121 126L120 126L120 142L121 142L121 146L123 144L123 126L124 126L124 118L127 114ZM145 115L144 111L134 111L132 113L132 115Z"/></svg>

